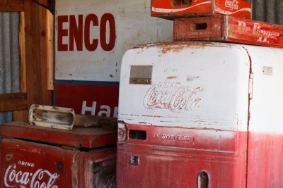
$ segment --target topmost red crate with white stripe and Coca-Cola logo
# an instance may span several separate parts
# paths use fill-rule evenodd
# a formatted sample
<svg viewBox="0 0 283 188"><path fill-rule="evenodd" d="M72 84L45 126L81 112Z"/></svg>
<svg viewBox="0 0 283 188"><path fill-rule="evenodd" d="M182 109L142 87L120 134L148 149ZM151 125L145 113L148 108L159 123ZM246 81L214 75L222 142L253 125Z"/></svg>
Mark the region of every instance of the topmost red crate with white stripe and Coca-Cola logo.
<svg viewBox="0 0 283 188"><path fill-rule="evenodd" d="M151 16L173 19L203 15L251 18L251 4L243 0L151 0Z"/></svg>

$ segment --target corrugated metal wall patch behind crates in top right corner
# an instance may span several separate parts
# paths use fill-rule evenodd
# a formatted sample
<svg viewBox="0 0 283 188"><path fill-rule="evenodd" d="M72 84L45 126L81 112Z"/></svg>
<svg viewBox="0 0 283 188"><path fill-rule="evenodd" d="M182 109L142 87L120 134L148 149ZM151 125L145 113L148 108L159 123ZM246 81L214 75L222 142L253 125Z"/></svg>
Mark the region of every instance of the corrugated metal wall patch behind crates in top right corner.
<svg viewBox="0 0 283 188"><path fill-rule="evenodd" d="M253 3L253 20L283 25L283 0L249 0Z"/></svg>

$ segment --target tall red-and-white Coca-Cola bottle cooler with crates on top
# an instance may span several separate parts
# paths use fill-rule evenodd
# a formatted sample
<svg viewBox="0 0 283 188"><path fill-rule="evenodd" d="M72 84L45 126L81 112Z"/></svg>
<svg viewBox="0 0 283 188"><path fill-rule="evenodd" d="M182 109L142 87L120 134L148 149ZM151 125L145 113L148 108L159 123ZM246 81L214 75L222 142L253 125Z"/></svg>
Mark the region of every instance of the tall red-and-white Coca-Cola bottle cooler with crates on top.
<svg viewBox="0 0 283 188"><path fill-rule="evenodd" d="M117 187L283 187L282 59L213 42L127 51Z"/></svg>

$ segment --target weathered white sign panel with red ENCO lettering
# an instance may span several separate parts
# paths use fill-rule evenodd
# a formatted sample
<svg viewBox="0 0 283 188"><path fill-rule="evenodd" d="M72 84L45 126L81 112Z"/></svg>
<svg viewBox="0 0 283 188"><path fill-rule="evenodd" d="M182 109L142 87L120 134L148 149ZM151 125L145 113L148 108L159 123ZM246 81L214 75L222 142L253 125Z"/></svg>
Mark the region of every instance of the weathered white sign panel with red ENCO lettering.
<svg viewBox="0 0 283 188"><path fill-rule="evenodd" d="M152 18L150 0L58 0L55 6L56 80L119 82L127 49L172 40L173 22Z"/></svg>

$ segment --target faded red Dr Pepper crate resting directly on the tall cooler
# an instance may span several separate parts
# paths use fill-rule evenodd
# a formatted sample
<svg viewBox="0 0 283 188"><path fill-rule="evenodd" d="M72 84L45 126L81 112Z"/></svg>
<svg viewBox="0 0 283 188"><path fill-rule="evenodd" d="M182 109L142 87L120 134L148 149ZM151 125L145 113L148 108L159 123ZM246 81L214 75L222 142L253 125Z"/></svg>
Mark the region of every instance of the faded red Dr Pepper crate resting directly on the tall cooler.
<svg viewBox="0 0 283 188"><path fill-rule="evenodd" d="M174 41L204 40L283 47L283 25L227 15L174 20Z"/></svg>

